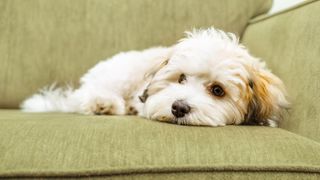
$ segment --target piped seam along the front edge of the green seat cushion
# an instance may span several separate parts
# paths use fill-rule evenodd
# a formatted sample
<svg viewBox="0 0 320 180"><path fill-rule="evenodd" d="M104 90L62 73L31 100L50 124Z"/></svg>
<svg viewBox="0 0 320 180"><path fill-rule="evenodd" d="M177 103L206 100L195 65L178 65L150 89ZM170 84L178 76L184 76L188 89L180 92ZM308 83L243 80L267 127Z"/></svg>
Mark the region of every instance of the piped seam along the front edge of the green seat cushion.
<svg viewBox="0 0 320 180"><path fill-rule="evenodd" d="M139 174L170 174L170 173L184 173L184 172L269 172L269 173L316 173L320 175L320 166L313 166L305 169L306 166L270 166L270 167L256 167L256 166L180 166L180 167L142 167L142 168L126 168L114 170L79 170L69 172L15 172L15 173L0 173L0 178L43 178L43 177L101 177L101 176L119 176L119 175L139 175Z"/></svg>

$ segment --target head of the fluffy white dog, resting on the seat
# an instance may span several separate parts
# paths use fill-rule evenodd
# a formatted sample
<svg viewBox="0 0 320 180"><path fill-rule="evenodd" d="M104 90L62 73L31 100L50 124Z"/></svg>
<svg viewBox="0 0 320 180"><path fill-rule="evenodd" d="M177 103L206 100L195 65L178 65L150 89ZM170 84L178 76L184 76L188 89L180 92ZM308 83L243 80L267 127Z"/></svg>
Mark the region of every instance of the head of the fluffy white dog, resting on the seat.
<svg viewBox="0 0 320 180"><path fill-rule="evenodd" d="M288 106L282 81L231 33L194 30L141 96L146 117L186 125L267 125Z"/></svg>

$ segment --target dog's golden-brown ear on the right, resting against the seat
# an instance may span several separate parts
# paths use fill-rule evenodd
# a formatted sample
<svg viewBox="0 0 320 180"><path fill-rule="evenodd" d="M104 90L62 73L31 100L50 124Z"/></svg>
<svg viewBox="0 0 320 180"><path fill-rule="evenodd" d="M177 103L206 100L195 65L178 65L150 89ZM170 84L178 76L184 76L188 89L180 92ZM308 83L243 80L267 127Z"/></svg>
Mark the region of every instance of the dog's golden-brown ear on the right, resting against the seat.
<svg viewBox="0 0 320 180"><path fill-rule="evenodd" d="M283 82L265 69L251 72L244 124L277 126L284 110L289 108Z"/></svg>

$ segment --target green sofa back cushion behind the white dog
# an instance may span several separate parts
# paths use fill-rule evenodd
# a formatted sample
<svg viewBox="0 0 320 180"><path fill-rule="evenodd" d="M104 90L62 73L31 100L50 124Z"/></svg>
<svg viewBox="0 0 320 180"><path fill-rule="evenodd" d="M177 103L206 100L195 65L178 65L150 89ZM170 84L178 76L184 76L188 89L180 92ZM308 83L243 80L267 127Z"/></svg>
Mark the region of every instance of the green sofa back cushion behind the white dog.
<svg viewBox="0 0 320 180"><path fill-rule="evenodd" d="M0 108L78 82L119 51L171 45L193 27L242 34L271 0L1 0Z"/></svg>

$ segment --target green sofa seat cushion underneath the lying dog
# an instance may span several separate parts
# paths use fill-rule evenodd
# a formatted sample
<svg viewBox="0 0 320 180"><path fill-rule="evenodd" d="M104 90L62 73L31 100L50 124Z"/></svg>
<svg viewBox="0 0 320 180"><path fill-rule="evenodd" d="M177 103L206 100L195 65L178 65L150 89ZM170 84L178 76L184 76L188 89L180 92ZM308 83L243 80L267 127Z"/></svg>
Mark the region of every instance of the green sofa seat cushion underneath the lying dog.
<svg viewBox="0 0 320 180"><path fill-rule="evenodd" d="M0 177L319 179L320 144L270 127L1 110L0 162Z"/></svg>

